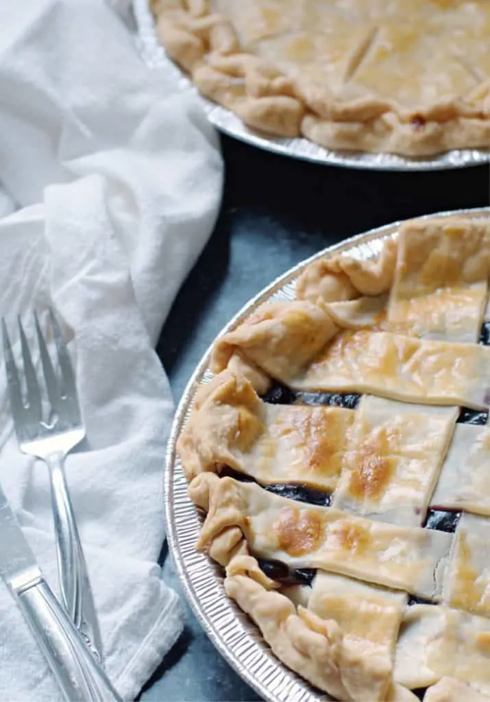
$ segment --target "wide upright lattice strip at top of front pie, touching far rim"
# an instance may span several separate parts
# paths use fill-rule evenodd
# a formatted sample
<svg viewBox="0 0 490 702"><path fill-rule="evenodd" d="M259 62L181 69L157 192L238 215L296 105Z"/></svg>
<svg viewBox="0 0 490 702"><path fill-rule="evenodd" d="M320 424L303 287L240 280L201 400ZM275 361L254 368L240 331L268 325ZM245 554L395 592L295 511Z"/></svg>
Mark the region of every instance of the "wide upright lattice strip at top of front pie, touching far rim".
<svg viewBox="0 0 490 702"><path fill-rule="evenodd" d="M477 343L490 271L490 224L409 222L399 234L388 320L427 339Z"/></svg>

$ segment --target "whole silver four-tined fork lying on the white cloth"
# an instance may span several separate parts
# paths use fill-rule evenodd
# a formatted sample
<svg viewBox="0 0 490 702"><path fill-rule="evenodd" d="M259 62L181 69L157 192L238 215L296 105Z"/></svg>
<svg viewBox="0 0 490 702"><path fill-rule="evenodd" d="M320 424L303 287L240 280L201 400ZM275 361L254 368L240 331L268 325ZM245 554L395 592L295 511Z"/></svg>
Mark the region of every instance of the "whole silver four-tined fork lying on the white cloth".
<svg viewBox="0 0 490 702"><path fill-rule="evenodd" d="M58 353L60 376L57 376L46 340L34 312L41 366L51 411L46 416L31 352L20 317L18 318L22 364L27 401L22 398L20 377L5 320L1 320L4 356L11 400L11 413L20 450L41 458L48 466L51 502L56 538L58 577L63 607L74 622L88 649L102 663L102 644L88 573L69 498L64 463L67 453L85 437L72 364L53 310L49 310L53 339Z"/></svg>

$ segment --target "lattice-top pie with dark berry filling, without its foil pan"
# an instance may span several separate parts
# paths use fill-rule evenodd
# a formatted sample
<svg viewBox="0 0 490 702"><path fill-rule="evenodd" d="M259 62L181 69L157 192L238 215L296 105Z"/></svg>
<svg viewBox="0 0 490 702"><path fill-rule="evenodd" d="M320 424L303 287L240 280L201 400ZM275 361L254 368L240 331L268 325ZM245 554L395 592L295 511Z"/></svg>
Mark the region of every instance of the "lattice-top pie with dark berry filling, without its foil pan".
<svg viewBox="0 0 490 702"><path fill-rule="evenodd" d="M490 220L316 260L216 343L178 440L198 548L339 700L490 699Z"/></svg>

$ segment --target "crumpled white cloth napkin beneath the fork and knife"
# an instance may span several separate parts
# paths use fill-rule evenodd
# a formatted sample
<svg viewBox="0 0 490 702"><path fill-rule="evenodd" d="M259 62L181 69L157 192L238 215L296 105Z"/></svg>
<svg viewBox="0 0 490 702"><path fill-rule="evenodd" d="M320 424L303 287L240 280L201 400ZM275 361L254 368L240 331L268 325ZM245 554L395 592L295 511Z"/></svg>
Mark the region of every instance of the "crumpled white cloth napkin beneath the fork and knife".
<svg viewBox="0 0 490 702"><path fill-rule="evenodd" d="M69 340L87 439L67 477L107 673L133 698L182 627L157 566L173 404L153 345L216 218L216 135L102 0L0 2L0 95L0 212L23 208L0 220L0 314L18 357L34 307L46 325L53 303ZM48 472L18 450L7 397L1 362L0 482L58 592ZM58 698L0 583L0 699Z"/></svg>

